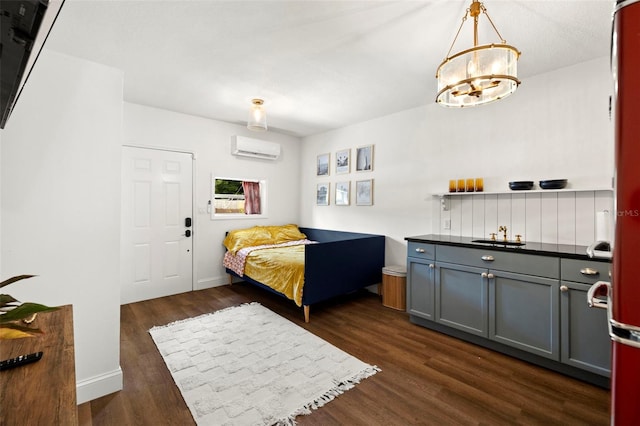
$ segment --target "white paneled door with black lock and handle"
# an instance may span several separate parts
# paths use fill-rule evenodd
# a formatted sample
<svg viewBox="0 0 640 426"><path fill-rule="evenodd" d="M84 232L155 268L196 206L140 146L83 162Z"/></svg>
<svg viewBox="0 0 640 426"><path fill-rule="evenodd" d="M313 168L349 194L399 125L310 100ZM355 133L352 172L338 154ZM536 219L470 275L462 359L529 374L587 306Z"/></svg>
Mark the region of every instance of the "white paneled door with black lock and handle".
<svg viewBox="0 0 640 426"><path fill-rule="evenodd" d="M193 289L191 154L122 149L121 303Z"/></svg>

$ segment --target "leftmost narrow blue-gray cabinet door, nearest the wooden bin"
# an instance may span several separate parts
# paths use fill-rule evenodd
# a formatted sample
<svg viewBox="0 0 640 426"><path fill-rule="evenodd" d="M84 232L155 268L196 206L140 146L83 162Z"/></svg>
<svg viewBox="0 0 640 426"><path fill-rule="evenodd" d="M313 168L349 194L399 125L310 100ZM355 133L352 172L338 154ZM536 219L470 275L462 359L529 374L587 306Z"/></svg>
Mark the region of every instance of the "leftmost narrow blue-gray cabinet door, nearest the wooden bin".
<svg viewBox="0 0 640 426"><path fill-rule="evenodd" d="M434 277L433 261L408 259L407 312L433 320Z"/></svg>

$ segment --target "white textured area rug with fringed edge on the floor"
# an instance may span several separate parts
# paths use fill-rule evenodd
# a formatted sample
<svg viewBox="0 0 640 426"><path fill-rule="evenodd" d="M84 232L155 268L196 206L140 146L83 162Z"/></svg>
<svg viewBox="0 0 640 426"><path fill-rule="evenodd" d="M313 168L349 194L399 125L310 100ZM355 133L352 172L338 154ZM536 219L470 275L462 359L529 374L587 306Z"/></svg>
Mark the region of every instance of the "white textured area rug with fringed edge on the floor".
<svg viewBox="0 0 640 426"><path fill-rule="evenodd" d="M380 371L255 302L149 333L198 425L294 425Z"/></svg>

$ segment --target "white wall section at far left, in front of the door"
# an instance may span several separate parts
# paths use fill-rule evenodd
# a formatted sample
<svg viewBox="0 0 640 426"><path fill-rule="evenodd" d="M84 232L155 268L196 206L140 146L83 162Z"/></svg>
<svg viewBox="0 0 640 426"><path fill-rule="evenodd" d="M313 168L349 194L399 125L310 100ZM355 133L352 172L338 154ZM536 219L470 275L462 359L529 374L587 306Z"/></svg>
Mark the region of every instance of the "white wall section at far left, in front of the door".
<svg viewBox="0 0 640 426"><path fill-rule="evenodd" d="M38 275L3 291L73 305L79 403L122 387L122 90L120 71L45 50L0 133L1 275Z"/></svg>

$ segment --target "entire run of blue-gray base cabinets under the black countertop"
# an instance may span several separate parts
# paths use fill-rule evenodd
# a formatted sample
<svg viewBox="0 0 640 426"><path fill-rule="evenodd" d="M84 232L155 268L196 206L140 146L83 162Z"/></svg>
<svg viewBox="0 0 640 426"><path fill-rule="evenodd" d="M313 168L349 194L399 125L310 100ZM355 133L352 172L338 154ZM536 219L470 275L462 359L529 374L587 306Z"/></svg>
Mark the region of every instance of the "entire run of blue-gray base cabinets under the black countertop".
<svg viewBox="0 0 640 426"><path fill-rule="evenodd" d="M608 279L607 261L410 241L407 266L407 311L417 324L600 385L586 375L609 377L606 310L586 298Z"/></svg>

